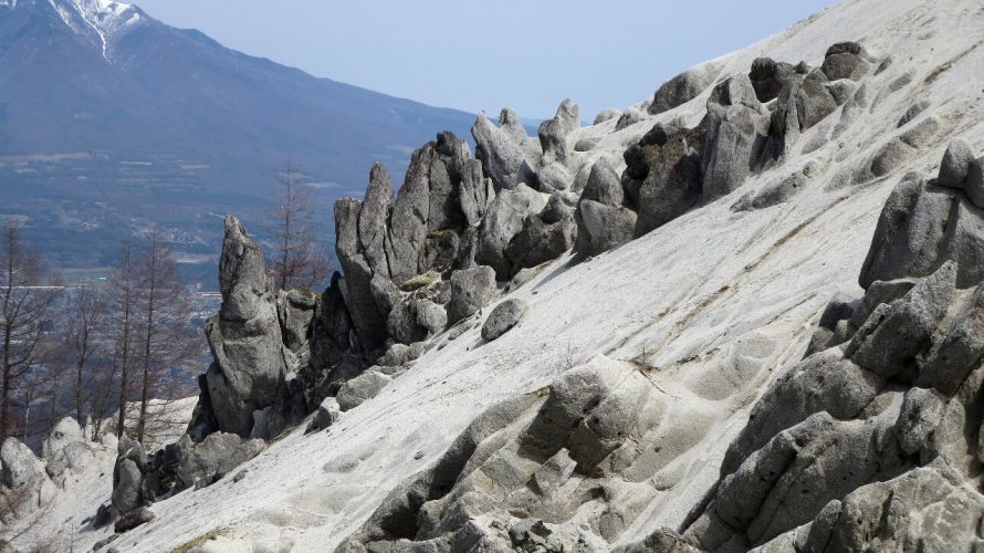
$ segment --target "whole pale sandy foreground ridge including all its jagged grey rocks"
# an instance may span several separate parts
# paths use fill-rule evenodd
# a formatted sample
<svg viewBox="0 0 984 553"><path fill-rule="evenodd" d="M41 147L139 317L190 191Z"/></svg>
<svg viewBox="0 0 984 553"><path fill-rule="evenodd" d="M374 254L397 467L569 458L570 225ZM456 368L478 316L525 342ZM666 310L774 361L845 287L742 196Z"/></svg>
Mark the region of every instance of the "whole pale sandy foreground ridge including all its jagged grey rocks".
<svg viewBox="0 0 984 553"><path fill-rule="evenodd" d="M399 191L374 166L336 204L344 274L320 295L274 290L227 218L188 434L80 463L127 476L81 490L119 532L71 490L30 532L97 551L981 546L982 21L969 0L852 0L589 127L569 101L536 137L480 115L474 157L442 133Z"/></svg>

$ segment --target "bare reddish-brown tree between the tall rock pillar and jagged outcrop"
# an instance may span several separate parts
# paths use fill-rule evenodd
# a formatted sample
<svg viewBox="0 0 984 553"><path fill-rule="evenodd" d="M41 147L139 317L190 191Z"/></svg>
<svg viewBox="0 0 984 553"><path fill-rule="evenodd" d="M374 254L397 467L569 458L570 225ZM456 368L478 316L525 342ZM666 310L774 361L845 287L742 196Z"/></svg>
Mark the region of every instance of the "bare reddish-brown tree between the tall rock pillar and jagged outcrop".
<svg viewBox="0 0 984 553"><path fill-rule="evenodd" d="M284 166L278 184L276 205L266 210L268 223L263 226L273 238L270 272L280 290L311 290L324 283L331 265L324 244L317 239L308 188L291 164Z"/></svg>

